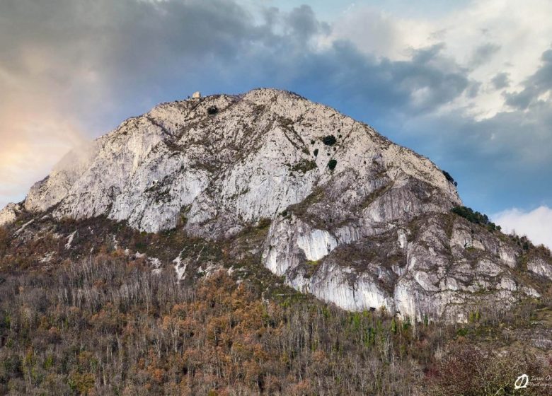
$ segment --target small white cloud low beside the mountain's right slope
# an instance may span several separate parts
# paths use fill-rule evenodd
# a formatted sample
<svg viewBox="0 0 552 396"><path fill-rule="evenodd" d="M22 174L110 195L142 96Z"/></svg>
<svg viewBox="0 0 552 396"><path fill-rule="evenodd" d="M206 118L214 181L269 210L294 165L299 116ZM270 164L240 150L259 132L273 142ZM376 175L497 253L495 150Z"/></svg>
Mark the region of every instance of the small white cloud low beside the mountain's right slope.
<svg viewBox="0 0 552 396"><path fill-rule="evenodd" d="M508 209L493 216L493 221L502 231L527 235L535 245L546 245L552 249L552 209L539 206L532 211Z"/></svg>

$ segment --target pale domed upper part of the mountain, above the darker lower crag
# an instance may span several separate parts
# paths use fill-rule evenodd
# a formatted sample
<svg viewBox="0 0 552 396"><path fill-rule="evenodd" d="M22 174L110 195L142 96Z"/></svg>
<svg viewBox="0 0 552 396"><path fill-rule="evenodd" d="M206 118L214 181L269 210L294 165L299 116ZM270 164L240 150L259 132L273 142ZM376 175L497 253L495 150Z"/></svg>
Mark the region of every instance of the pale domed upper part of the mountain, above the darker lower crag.
<svg viewBox="0 0 552 396"><path fill-rule="evenodd" d="M193 233L223 235L275 218L316 187L343 190L345 212L384 185L391 196L418 181L426 187L408 214L376 203L374 221L447 211L459 197L427 158L374 129L294 93L257 89L163 103L126 120L69 153L33 186L25 209L56 206L54 216L77 219L105 214L149 232L185 216Z"/></svg>

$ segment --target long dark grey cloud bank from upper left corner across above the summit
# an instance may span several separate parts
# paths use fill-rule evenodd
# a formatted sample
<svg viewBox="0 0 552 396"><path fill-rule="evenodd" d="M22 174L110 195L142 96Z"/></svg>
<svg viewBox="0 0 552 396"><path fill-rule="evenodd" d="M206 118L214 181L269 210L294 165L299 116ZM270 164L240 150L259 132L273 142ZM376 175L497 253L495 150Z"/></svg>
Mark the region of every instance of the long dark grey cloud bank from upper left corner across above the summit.
<svg viewBox="0 0 552 396"><path fill-rule="evenodd" d="M401 62L361 54L350 42L311 51L309 40L329 27L309 6L289 13L268 8L258 24L245 8L222 0L6 1L0 16L3 66L36 86L58 81L55 89L48 87L59 95L54 100L90 119L100 117L91 116L91 108L101 112L106 97L115 119L125 106L168 100L186 86L316 91L310 86L316 83L318 91L344 92L345 100L355 95L374 107L426 112L469 84L468 72L442 56L442 43ZM41 57L38 72L28 62L33 52Z"/></svg>

